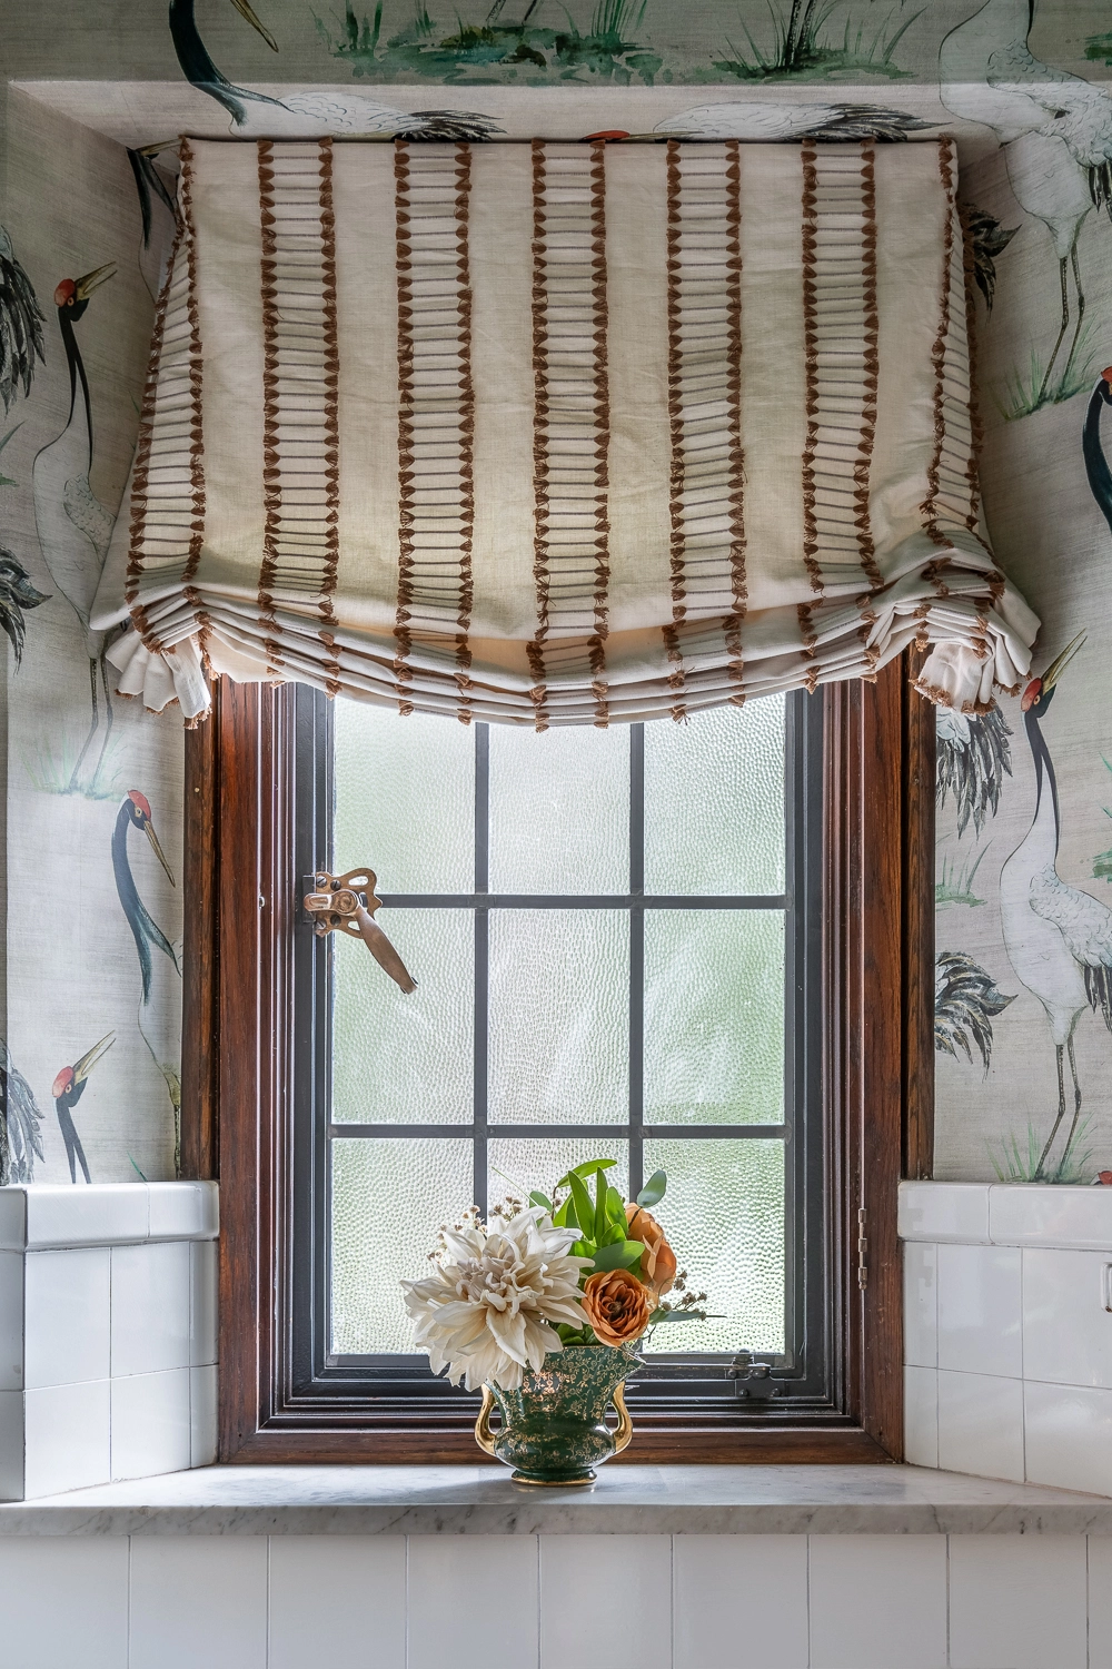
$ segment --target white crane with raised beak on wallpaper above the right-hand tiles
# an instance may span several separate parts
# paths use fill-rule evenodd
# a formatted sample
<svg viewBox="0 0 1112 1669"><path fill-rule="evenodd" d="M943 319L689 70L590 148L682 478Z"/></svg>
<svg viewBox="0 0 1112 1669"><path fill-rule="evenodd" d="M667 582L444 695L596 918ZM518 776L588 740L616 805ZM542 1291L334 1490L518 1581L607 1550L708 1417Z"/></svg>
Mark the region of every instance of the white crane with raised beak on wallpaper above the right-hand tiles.
<svg viewBox="0 0 1112 1669"><path fill-rule="evenodd" d="M1040 729L1055 686L1084 641L1082 633L1024 693L1024 729L1035 761L1035 814L1027 834L1000 870L1000 926L1007 960L1020 985L1042 1003L1059 1073L1059 1110L1032 1182L1045 1178L1047 1158L1065 1118L1067 1055L1074 1080L1074 1120L1059 1160L1059 1175L1077 1135L1082 1093L1074 1031L1080 1015L1085 1008L1094 1013L1099 1010L1112 1031L1112 910L1089 893L1067 886L1057 871L1059 784Z"/></svg>

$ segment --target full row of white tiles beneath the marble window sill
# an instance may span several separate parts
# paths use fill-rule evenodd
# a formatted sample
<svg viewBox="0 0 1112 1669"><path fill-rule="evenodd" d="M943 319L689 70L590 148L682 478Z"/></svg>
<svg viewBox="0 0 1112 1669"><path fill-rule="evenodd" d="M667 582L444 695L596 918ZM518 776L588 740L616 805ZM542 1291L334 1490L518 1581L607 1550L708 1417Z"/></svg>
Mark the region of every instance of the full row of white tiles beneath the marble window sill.
<svg viewBox="0 0 1112 1669"><path fill-rule="evenodd" d="M0 1539L0 1669L1112 1669L1112 1539Z"/></svg>

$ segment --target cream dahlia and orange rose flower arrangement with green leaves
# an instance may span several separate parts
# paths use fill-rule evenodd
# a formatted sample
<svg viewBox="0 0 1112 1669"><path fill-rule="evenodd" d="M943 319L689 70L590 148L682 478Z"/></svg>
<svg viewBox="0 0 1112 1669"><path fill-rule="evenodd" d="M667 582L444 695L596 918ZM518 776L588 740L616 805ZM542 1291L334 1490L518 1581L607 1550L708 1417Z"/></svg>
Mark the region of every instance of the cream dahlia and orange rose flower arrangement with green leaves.
<svg viewBox="0 0 1112 1669"><path fill-rule="evenodd" d="M664 1322L705 1320L650 1207L659 1170L635 1200L607 1182L617 1160L569 1170L552 1197L507 1198L490 1222L470 1207L442 1225L427 1280L403 1280L413 1337L433 1374L478 1390L517 1390L547 1355L575 1345L632 1347ZM594 1188L592 1188L594 1178Z"/></svg>

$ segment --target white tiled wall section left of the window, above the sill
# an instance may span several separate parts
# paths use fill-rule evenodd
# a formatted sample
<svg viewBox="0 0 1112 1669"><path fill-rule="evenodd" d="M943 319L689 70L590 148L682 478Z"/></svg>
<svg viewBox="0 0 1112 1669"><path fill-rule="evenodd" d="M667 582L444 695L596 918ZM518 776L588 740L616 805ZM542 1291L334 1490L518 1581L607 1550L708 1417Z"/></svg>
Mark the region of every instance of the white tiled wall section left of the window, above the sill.
<svg viewBox="0 0 1112 1669"><path fill-rule="evenodd" d="M217 1185L0 1188L0 1500L208 1465Z"/></svg>

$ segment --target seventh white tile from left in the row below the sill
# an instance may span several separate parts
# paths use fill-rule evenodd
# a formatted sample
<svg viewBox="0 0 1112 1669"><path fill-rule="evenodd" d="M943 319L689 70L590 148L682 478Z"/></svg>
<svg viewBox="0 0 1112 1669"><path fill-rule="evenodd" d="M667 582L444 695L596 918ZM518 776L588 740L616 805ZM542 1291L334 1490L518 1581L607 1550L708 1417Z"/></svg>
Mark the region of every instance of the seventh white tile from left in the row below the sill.
<svg viewBox="0 0 1112 1669"><path fill-rule="evenodd" d="M942 1535L812 1535L810 1669L947 1669L945 1589Z"/></svg>

